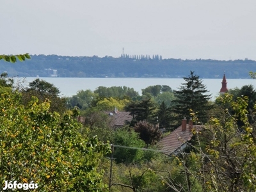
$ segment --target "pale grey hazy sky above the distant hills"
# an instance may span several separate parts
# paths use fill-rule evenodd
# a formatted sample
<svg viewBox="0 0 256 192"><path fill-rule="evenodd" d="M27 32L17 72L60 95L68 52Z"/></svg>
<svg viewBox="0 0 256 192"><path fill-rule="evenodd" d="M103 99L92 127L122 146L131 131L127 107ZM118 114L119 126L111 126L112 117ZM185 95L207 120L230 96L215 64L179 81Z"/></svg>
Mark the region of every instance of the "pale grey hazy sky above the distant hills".
<svg viewBox="0 0 256 192"><path fill-rule="evenodd" d="M255 0L1 0L0 54L256 60Z"/></svg>

